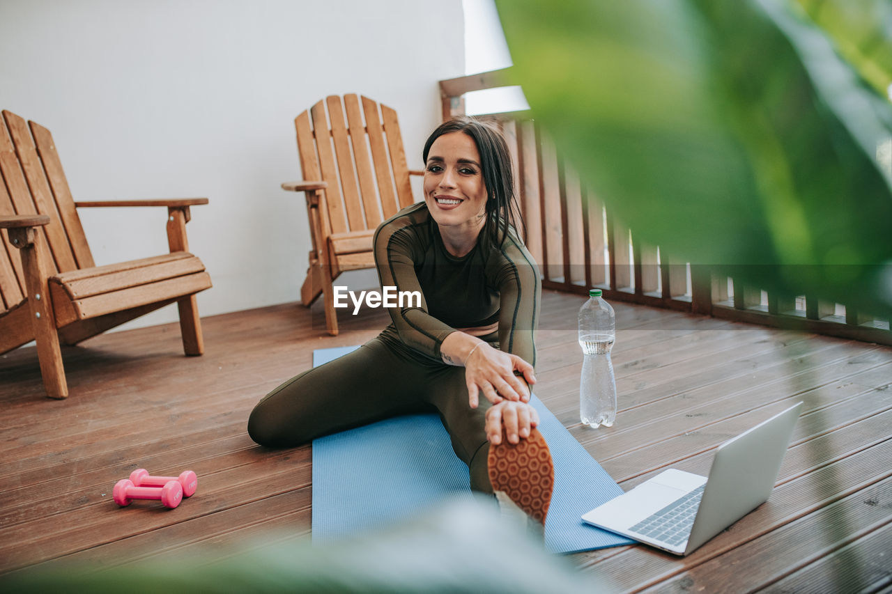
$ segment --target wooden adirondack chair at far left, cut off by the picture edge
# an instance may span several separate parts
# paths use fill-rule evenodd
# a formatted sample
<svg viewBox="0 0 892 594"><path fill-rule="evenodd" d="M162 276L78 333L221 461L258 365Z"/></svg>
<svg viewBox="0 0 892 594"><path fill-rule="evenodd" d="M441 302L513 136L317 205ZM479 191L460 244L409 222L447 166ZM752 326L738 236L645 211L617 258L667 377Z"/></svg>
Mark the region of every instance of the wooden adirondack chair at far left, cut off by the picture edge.
<svg viewBox="0 0 892 594"><path fill-rule="evenodd" d="M188 252L189 207L207 198L74 202L49 130L0 120L0 353L30 341L46 394L68 396L60 343L75 344L176 301L183 348L204 351L195 293L211 286ZM95 266L76 207L165 206L170 253ZM18 249L15 249L18 248ZM21 255L21 258L20 258Z"/></svg>

